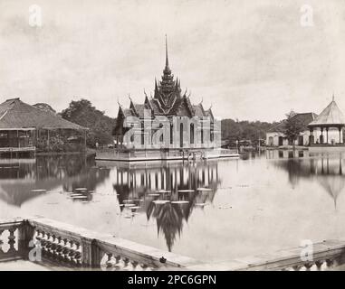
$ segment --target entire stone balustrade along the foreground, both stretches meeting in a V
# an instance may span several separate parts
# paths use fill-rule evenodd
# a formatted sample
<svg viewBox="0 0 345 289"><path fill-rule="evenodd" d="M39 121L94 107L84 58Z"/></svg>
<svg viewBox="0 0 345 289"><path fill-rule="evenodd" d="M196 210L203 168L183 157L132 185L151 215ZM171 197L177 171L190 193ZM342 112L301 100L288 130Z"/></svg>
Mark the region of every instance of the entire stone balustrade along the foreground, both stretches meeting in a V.
<svg viewBox="0 0 345 289"><path fill-rule="evenodd" d="M322 271L345 265L345 240L314 243L308 256L295 247L220 263L187 256L41 217L0 220L0 262L31 260L41 252L42 265L98 270ZM34 261L34 260L31 260Z"/></svg>

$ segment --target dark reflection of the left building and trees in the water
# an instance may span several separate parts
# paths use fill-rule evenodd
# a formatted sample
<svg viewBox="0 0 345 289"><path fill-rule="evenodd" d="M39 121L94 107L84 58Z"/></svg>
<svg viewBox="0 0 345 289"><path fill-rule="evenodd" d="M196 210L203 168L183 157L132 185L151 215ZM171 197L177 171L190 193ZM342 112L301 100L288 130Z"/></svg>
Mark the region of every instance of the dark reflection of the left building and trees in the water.
<svg viewBox="0 0 345 289"><path fill-rule="evenodd" d="M91 172L94 164L92 156L80 154L37 156L36 159L2 160L0 163L0 199L8 204L21 206L43 191L63 185L64 189L73 186L89 185L93 190L96 183L102 182L109 171Z"/></svg>

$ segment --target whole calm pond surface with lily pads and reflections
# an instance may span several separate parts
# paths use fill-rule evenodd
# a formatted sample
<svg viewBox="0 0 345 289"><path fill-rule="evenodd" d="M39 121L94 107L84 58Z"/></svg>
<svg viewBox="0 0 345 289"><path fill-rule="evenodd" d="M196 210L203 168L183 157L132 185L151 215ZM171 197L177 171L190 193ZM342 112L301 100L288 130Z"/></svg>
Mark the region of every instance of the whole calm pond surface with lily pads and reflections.
<svg viewBox="0 0 345 289"><path fill-rule="evenodd" d="M344 165L345 154L308 151L130 166L0 160L0 218L41 215L217 262L345 237ZM71 195L78 188L87 192Z"/></svg>

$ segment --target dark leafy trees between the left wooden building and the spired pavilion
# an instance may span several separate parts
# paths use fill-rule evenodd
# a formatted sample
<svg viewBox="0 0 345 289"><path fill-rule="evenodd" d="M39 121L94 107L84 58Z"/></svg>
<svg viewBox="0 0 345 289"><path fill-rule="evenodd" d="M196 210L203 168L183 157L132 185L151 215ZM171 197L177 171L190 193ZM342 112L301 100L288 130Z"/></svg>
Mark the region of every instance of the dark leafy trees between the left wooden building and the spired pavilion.
<svg viewBox="0 0 345 289"><path fill-rule="evenodd" d="M87 133L89 147L95 147L96 143L113 144L111 132L116 120L92 107L89 100L81 98L81 100L72 101L68 108L62 110L61 116L75 124L90 128Z"/></svg>

